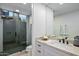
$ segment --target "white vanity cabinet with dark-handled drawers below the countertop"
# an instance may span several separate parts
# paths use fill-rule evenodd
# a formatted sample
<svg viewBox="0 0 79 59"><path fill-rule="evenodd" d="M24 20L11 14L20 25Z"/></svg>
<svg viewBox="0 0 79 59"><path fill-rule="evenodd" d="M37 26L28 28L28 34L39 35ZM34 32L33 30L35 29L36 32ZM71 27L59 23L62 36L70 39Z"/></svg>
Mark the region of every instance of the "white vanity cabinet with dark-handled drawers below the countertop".
<svg viewBox="0 0 79 59"><path fill-rule="evenodd" d="M49 46L38 41L36 41L35 49L36 56L74 56L74 54L62 51L53 46Z"/></svg>

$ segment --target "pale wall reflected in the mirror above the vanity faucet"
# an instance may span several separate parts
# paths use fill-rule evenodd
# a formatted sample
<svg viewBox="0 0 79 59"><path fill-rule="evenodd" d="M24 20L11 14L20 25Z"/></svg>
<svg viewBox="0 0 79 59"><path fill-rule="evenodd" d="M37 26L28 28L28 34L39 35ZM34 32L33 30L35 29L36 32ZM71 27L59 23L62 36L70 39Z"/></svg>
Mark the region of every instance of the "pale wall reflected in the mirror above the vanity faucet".
<svg viewBox="0 0 79 59"><path fill-rule="evenodd" d="M67 25L67 32L70 36L79 35L79 11L56 16L54 19L54 34L59 35L60 24Z"/></svg>

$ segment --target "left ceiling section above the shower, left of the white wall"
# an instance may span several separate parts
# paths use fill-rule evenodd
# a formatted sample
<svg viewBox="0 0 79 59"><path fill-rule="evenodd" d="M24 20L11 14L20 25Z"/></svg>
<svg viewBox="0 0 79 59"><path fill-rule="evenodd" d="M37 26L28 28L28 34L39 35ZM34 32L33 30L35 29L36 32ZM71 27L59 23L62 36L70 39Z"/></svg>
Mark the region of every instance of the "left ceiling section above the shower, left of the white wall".
<svg viewBox="0 0 79 59"><path fill-rule="evenodd" d="M31 4L23 4L23 3L0 3L0 8L16 11L19 10L20 13L24 15L31 15Z"/></svg>

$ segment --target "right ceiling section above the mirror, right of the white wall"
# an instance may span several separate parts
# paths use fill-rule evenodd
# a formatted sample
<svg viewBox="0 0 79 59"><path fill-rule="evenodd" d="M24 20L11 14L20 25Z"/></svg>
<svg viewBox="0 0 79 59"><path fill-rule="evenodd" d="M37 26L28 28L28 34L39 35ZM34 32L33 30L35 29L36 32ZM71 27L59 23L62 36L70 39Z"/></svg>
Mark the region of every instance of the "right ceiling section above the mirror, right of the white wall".
<svg viewBox="0 0 79 59"><path fill-rule="evenodd" d="M64 3L60 5L59 3L47 3L44 4L54 11L54 15L62 15L74 11L79 11L79 3Z"/></svg>

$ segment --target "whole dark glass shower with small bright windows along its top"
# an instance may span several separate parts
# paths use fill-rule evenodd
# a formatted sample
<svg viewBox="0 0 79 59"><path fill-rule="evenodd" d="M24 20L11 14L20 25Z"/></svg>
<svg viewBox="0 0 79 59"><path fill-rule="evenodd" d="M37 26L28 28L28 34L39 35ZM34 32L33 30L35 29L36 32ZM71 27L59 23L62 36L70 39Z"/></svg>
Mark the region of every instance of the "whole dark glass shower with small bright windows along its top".
<svg viewBox="0 0 79 59"><path fill-rule="evenodd" d="M26 49L28 16L4 9L1 12L3 52L0 52L0 55L10 55Z"/></svg>

